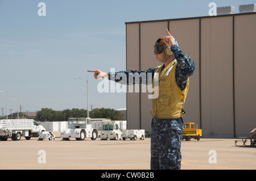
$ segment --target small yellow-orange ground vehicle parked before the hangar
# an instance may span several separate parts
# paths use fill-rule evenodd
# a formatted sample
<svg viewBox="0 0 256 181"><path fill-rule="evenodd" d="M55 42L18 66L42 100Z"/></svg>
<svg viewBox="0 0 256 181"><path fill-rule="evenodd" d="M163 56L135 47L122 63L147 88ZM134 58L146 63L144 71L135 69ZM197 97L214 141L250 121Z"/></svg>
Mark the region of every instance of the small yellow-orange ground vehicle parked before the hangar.
<svg viewBox="0 0 256 181"><path fill-rule="evenodd" d="M195 123L184 123L184 132L182 139L185 139L186 141L190 141L191 138L194 138L195 140L199 141L200 137L202 136L202 129L197 129L197 126Z"/></svg>

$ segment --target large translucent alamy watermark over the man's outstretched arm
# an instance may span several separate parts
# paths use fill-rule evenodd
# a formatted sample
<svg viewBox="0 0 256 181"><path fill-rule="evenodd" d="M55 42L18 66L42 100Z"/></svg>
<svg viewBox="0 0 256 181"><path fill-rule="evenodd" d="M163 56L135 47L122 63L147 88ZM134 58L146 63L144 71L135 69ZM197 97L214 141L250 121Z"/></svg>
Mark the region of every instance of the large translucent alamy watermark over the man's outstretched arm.
<svg viewBox="0 0 256 181"><path fill-rule="evenodd" d="M115 83L117 82L117 83ZM141 84L141 87L140 87ZM127 87L128 86L128 87ZM110 81L103 78L97 86L100 93L103 92L148 92L148 99L156 99L159 94L159 76L154 73L154 87L152 87L152 73L129 73L128 77L125 73L119 72L115 74L115 69L110 69Z"/></svg>

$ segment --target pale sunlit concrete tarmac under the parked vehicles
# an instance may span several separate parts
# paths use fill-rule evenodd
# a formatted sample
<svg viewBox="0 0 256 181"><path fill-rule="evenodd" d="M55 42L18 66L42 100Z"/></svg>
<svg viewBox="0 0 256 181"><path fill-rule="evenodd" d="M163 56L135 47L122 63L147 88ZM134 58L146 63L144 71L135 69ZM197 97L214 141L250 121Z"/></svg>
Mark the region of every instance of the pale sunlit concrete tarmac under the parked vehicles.
<svg viewBox="0 0 256 181"><path fill-rule="evenodd" d="M51 141L0 141L0 170L150 170L150 138L63 141L55 134ZM255 170L256 148L234 140L183 140L181 170Z"/></svg>

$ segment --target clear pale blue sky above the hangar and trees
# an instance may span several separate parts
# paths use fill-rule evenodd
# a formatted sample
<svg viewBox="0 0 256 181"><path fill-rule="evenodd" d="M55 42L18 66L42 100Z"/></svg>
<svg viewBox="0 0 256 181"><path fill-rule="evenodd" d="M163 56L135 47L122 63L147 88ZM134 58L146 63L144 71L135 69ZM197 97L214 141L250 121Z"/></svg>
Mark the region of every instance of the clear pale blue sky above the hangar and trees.
<svg viewBox="0 0 256 181"><path fill-rule="evenodd" d="M86 110L86 81L89 108L126 108L125 93L99 92L101 80L87 70L126 69L126 22L208 16L210 2L239 13L256 0L0 0L0 91L8 94L8 113L17 111L15 100L22 112Z"/></svg>

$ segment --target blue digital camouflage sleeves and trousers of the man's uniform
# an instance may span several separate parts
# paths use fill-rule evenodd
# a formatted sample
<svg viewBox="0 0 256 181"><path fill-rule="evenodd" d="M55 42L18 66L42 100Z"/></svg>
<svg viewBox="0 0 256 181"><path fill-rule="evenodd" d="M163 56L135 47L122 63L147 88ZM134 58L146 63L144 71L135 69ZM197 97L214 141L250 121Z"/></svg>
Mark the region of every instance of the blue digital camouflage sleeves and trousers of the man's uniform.
<svg viewBox="0 0 256 181"><path fill-rule="evenodd" d="M195 63L177 45L172 46L171 50L177 60L175 70L176 83L182 91L185 88L188 77L195 71ZM143 83L142 79L134 78L134 73L144 74L144 77L148 78L148 73L151 73L152 77L154 77L154 70L155 67L142 71L127 70L115 73L109 72L109 79L119 83L126 83L127 85L131 83ZM126 77L125 82L122 81L124 75ZM182 117L177 119L157 119L155 117L151 120L151 129L151 169L180 169L180 146L184 131Z"/></svg>

